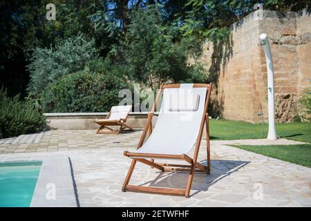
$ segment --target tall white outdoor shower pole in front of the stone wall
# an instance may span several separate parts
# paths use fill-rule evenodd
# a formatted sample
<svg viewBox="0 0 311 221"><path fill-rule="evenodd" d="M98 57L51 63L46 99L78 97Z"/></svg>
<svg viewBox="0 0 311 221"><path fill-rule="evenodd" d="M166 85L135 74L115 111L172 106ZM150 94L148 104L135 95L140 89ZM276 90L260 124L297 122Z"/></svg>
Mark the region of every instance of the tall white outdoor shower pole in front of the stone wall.
<svg viewBox="0 0 311 221"><path fill-rule="evenodd" d="M267 93L268 93L268 115L269 115L269 131L268 140L276 140L276 131L274 124L274 83L273 83L273 63L269 40L266 34L261 34L261 45L265 51L265 60L267 63Z"/></svg>

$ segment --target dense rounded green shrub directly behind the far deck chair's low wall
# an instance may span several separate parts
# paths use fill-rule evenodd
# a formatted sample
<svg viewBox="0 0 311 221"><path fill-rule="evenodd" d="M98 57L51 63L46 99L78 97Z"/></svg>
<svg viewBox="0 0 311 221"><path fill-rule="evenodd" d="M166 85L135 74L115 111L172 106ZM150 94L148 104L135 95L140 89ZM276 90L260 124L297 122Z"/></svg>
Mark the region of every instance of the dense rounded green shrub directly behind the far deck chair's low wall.
<svg viewBox="0 0 311 221"><path fill-rule="evenodd" d="M50 84L41 97L45 112L103 112L117 105L118 93L129 88L122 68L100 65L94 61L89 68L66 75ZM100 70L102 68L102 70ZM97 72L91 71L97 69Z"/></svg>

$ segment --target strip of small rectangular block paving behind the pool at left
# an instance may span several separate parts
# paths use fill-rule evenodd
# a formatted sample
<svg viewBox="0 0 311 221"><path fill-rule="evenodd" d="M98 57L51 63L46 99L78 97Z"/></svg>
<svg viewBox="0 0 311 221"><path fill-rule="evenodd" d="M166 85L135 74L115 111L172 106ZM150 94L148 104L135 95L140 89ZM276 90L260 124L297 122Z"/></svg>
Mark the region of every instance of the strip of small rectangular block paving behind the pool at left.
<svg viewBox="0 0 311 221"><path fill-rule="evenodd" d="M53 130L0 140L1 153L77 151L128 144L134 146L142 130L122 135L99 135L95 130ZM35 142L34 142L35 139ZM38 141L39 140L39 141ZM123 144L120 144L122 140Z"/></svg>

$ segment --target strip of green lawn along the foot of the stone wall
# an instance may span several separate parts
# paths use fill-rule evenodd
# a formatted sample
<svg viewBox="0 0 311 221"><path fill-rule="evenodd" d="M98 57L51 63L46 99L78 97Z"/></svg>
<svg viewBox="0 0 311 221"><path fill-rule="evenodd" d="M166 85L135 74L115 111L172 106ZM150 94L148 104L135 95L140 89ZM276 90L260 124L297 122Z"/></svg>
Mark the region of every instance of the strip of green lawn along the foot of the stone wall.
<svg viewBox="0 0 311 221"><path fill-rule="evenodd" d="M232 120L209 120L209 130L212 140L241 140L266 138L268 124L236 122ZM280 137L311 143L311 123L292 122L276 124L276 134Z"/></svg>

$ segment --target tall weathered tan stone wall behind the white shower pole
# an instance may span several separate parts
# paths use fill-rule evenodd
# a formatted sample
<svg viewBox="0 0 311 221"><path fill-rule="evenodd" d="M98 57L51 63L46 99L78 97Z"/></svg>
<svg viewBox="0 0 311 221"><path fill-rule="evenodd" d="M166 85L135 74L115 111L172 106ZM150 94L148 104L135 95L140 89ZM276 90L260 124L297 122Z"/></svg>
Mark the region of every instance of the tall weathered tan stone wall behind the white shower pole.
<svg viewBox="0 0 311 221"><path fill-rule="evenodd" d="M230 39L207 43L201 62L216 73L214 110L227 119L259 122L267 119L267 70L259 35L270 37L274 61L276 120L292 121L298 98L311 79L311 15L308 12L257 10L234 23Z"/></svg>

